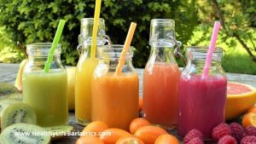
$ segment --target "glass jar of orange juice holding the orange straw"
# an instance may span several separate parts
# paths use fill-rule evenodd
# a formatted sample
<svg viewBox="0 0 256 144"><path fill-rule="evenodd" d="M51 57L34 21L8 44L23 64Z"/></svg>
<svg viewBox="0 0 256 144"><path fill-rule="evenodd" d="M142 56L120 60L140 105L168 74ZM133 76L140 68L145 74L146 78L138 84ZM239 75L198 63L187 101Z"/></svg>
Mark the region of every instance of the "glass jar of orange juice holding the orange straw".
<svg viewBox="0 0 256 144"><path fill-rule="evenodd" d="M137 72L132 66L132 51L125 55L121 74L115 74L123 45L103 46L98 49L100 61L92 78L93 121L102 121L110 128L129 130L131 120L138 117Z"/></svg>

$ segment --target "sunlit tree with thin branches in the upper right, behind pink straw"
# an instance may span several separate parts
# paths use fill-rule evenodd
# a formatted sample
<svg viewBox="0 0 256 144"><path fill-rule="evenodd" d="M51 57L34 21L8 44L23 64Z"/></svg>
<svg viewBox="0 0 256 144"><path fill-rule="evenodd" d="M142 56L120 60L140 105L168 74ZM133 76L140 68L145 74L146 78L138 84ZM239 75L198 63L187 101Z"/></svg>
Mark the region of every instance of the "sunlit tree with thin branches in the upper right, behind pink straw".
<svg viewBox="0 0 256 144"><path fill-rule="evenodd" d="M201 21L200 28L204 32L203 36L209 33L209 28L213 25L212 21L220 20L223 27L220 31L221 42L226 43L230 49L236 48L236 45L240 43L251 60L256 62L256 1L200 0L196 2L196 8ZM231 40L227 41L228 38ZM209 37L200 37L194 44L209 39Z"/></svg>

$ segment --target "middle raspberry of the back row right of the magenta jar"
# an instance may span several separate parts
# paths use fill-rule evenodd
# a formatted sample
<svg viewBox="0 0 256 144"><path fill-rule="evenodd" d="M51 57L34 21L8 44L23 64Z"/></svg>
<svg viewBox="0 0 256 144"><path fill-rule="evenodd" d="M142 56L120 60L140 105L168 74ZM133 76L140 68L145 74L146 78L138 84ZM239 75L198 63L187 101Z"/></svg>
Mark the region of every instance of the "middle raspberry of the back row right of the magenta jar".
<svg viewBox="0 0 256 144"><path fill-rule="evenodd" d="M241 124L232 123L230 124L230 129L231 129L231 136L233 136L236 139L236 141L241 141L244 135L244 130Z"/></svg>

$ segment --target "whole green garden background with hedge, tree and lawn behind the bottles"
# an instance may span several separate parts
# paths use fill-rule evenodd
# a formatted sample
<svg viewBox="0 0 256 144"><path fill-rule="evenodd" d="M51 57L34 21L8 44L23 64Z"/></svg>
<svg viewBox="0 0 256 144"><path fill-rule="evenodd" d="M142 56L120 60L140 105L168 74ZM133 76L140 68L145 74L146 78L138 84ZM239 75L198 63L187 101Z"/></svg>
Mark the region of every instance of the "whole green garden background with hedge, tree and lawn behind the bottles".
<svg viewBox="0 0 256 144"><path fill-rule="evenodd" d="M76 66L80 20L93 17L94 7L95 0L0 0L0 62L25 59L27 43L51 42L65 19L61 60ZM190 45L208 45L213 22L220 20L217 46L224 49L225 72L256 74L255 0L102 0L101 17L113 43L124 43L131 21L137 22L131 43L136 67L148 60L150 20L175 20L183 53Z"/></svg>

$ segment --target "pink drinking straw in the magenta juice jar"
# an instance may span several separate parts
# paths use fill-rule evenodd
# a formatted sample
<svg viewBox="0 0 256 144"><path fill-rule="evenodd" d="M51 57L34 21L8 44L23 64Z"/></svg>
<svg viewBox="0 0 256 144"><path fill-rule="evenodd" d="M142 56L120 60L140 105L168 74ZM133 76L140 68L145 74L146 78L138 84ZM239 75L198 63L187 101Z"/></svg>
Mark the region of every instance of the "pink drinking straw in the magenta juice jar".
<svg viewBox="0 0 256 144"><path fill-rule="evenodd" d="M207 51L207 61L206 61L205 67L204 67L204 71L202 73L202 78L208 77L209 68L210 68L211 62L212 62L212 54L215 49L215 44L216 44L216 40L218 37L219 27L220 27L220 22L215 21L214 26L213 26L213 31L212 31L211 43L210 43L208 51Z"/></svg>

